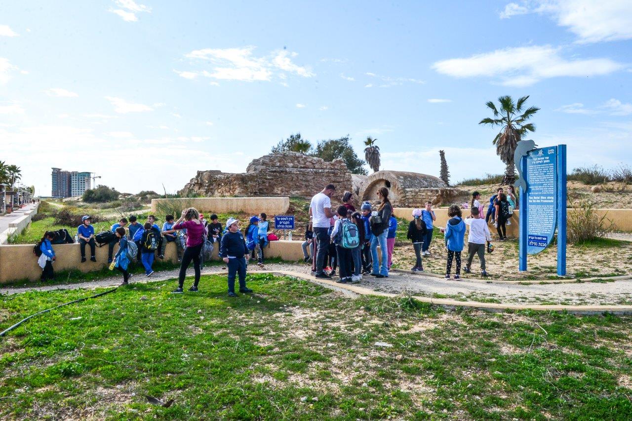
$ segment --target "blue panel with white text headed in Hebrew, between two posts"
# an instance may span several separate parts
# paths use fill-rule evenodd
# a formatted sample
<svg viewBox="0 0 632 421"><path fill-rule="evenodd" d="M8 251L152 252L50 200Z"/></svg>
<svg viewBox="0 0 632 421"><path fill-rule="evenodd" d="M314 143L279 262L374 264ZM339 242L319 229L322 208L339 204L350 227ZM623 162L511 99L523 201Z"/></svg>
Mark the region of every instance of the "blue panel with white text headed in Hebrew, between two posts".
<svg viewBox="0 0 632 421"><path fill-rule="evenodd" d="M551 242L557 222L557 146L533 149L526 157L526 252L539 253Z"/></svg>

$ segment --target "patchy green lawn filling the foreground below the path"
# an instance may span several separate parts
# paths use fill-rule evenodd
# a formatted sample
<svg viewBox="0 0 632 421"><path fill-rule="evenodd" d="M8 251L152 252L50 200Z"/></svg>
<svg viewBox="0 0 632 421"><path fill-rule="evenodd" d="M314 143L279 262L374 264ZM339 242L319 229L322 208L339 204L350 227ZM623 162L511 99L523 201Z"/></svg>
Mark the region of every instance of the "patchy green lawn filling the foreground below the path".
<svg viewBox="0 0 632 421"><path fill-rule="evenodd" d="M187 280L186 286L190 284ZM120 288L0 339L0 418L626 419L630 317L487 314L250 276ZM97 290L98 291L98 290ZM93 291L2 296L0 326ZM392 346L376 346L384 342ZM145 394L175 399L162 408Z"/></svg>

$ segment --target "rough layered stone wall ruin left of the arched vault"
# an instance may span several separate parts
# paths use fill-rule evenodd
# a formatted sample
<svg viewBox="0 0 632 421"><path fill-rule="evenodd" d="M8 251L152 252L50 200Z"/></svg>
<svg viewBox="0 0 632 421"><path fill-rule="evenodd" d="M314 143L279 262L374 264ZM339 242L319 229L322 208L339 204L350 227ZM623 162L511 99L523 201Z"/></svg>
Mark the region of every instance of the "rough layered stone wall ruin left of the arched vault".
<svg viewBox="0 0 632 421"><path fill-rule="evenodd" d="M298 152L281 152L254 159L246 173L198 171L180 195L204 197L298 196L312 197L325 185L351 191L351 173L341 159L325 162Z"/></svg>

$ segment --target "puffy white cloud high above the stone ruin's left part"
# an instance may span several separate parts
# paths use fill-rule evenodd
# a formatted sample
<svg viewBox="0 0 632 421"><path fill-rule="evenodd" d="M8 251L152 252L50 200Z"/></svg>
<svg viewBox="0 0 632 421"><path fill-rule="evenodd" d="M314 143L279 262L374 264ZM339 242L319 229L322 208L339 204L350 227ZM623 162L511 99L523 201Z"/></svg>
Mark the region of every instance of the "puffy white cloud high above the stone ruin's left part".
<svg viewBox="0 0 632 421"><path fill-rule="evenodd" d="M284 79L282 71L302 77L314 76L314 73L303 66L292 62L298 54L288 51L274 51L265 57L253 56L255 47L239 47L194 50L185 54L190 59L210 61L212 69L202 71L207 78L219 80L241 80L243 82L269 81L272 76ZM193 72L189 72L193 73Z"/></svg>

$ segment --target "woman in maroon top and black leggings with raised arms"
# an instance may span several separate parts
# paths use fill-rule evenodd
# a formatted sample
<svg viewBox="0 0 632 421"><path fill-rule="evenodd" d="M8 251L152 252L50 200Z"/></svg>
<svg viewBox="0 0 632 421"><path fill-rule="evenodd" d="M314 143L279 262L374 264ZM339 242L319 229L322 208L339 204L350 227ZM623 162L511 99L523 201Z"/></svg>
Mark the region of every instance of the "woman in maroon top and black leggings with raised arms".
<svg viewBox="0 0 632 421"><path fill-rule="evenodd" d="M178 288L176 288L173 293L181 294L183 292L186 269L189 267L191 260L193 260L193 269L195 269L195 281L189 291L196 292L198 290L197 286L200 283L200 252L202 251L202 245L204 245L205 232L204 223L200 221L200 212L198 212L195 207L183 210L182 215L171 228L186 228L186 249L180 264Z"/></svg>

